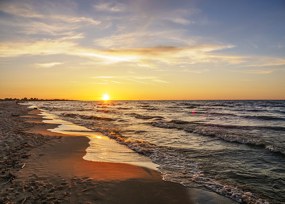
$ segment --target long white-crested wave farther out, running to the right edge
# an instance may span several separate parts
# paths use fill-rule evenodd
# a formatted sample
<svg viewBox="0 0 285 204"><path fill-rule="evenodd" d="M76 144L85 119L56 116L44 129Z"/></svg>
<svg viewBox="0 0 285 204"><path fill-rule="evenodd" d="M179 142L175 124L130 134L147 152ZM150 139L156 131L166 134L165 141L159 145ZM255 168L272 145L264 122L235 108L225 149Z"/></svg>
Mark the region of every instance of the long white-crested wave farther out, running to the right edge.
<svg viewBox="0 0 285 204"><path fill-rule="evenodd" d="M182 125L172 125L172 124L158 123L158 122L152 122L151 125L155 127L160 127L160 128L177 128L178 130L185 130L191 133L202 134L202 135L207 135L207 136L214 136L214 137L218 137L218 138L221 138L229 142L239 142L242 144L252 144L256 146L264 146L266 149L271 150L272 152L279 152L285 155L284 148L276 147L274 144L270 144L269 142L265 142L263 140L249 139L249 138L245 138L242 136L223 134L221 132L213 132L210 130L204 130L201 128L194 128L194 127L182 126Z"/></svg>

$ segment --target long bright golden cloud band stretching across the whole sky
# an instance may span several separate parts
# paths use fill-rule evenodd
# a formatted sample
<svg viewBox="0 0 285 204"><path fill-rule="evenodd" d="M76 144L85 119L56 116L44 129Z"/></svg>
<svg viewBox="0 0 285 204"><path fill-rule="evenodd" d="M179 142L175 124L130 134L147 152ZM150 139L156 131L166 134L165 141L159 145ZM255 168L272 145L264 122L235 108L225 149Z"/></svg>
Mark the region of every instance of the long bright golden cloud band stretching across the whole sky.
<svg viewBox="0 0 285 204"><path fill-rule="evenodd" d="M66 36L55 40L43 39L36 42L0 42L0 56L18 57L65 54L93 60L92 62L81 64L96 64L97 66L120 65L147 69L205 63L211 63L213 66L239 65L241 67L277 66L285 64L285 60L282 58L215 53L217 50L233 48L234 46L231 44L203 44L187 47L156 46L99 50L80 47L78 43L72 42L72 40L82 37L83 34L74 34L74 36Z"/></svg>

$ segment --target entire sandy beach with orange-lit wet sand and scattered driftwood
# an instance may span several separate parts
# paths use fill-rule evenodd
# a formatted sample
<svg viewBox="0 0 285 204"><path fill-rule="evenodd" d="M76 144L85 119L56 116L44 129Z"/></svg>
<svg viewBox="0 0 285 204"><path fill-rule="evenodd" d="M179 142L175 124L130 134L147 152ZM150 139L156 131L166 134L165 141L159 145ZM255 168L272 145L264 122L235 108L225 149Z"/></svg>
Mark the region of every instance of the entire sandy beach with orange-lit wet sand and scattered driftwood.
<svg viewBox="0 0 285 204"><path fill-rule="evenodd" d="M58 124L39 113L0 102L0 203L237 203L146 167L84 160L89 139L48 131Z"/></svg>

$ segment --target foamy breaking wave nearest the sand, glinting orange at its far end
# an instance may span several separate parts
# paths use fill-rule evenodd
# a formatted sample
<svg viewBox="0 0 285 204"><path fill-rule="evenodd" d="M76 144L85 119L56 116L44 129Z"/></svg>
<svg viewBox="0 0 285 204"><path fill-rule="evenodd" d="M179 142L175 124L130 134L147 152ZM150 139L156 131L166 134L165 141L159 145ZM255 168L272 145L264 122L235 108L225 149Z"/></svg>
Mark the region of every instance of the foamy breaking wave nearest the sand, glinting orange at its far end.
<svg viewBox="0 0 285 204"><path fill-rule="evenodd" d="M157 168L162 174L164 181L181 183L186 187L212 190L238 202L268 204L267 201L259 199L250 192L244 192L237 187L223 185L211 178L205 177L199 170L198 164L189 164L177 152L168 154L167 149L163 147L155 146L143 140L133 140L124 137L117 130L111 128L92 127L91 129L100 131L104 135L119 141L120 144L127 145L131 150L149 156L153 163L159 164Z"/></svg>

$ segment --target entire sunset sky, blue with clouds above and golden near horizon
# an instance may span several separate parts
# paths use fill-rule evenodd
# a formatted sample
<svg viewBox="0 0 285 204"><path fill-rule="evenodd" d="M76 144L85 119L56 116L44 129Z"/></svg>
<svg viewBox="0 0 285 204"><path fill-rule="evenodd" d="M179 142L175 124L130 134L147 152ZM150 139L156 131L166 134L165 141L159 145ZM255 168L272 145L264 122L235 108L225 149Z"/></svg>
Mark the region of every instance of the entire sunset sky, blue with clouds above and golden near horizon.
<svg viewBox="0 0 285 204"><path fill-rule="evenodd" d="M1 0L0 98L285 99L284 0Z"/></svg>

